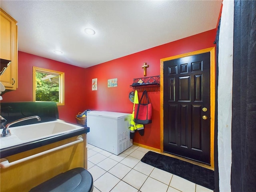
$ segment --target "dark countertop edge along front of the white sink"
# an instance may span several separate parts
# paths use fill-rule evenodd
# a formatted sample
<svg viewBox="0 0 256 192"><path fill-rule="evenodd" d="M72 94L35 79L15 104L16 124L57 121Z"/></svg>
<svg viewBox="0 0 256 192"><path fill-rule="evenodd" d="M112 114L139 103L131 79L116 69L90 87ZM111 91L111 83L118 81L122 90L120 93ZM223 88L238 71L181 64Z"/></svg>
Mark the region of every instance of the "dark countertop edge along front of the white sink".
<svg viewBox="0 0 256 192"><path fill-rule="evenodd" d="M10 128L10 130L11 130L11 128ZM28 150L31 150L31 149L34 149L34 148L38 148L38 147L41 147L41 146L44 146L44 145L48 145L48 144L51 144L51 143L54 143L54 142L58 142L58 141L61 141L61 140L67 139L67 138L71 138L71 137L74 137L74 136L85 134L85 133L88 133L89 131L90 131L89 127L81 126L81 129L78 129L78 130L73 130L73 131L62 133L62 134L57 134L57 135L54 135L54 136L40 138L40 139L33 140L33 141L30 141L30 142L25 142L25 143L22 143L22 144L17 144L17 145L14 145L14 146L2 148L2 149L0 149L0 158L5 158L5 157L10 156L10 155L18 154L18 153L21 153L21 152L24 152L24 151L28 151ZM8 138L8 140L15 140L16 139L15 137L13 137L13 138L11 138L11 137L12 136L10 136Z"/></svg>

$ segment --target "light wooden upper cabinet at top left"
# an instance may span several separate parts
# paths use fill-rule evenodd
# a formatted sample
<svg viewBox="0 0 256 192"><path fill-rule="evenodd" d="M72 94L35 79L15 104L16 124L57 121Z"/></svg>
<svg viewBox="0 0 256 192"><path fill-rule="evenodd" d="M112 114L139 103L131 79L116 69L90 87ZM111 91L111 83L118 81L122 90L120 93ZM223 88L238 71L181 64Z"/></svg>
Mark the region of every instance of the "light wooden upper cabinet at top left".
<svg viewBox="0 0 256 192"><path fill-rule="evenodd" d="M0 76L0 82L6 89L18 88L18 33L17 21L4 10L1 11L0 20L0 58L11 60L11 64Z"/></svg>

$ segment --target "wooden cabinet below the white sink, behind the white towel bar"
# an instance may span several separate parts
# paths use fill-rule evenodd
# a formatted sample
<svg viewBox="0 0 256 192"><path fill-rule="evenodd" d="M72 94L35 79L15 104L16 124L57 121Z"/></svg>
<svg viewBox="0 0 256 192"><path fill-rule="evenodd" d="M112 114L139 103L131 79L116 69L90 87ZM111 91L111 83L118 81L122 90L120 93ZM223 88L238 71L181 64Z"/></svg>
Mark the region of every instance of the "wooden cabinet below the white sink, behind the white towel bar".
<svg viewBox="0 0 256 192"><path fill-rule="evenodd" d="M54 176L76 167L87 169L86 134L83 142L44 154L25 162L0 169L1 192L26 192ZM6 157L14 162L64 144L76 141L77 136Z"/></svg>

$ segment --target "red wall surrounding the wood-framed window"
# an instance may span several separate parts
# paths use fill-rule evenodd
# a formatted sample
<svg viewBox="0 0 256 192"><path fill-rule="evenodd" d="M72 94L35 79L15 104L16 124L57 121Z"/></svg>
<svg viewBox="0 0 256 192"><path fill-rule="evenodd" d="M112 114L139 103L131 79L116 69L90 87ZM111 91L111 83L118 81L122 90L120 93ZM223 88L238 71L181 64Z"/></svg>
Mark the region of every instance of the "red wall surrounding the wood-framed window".
<svg viewBox="0 0 256 192"><path fill-rule="evenodd" d="M59 118L76 123L75 116L84 110L86 91L84 68L42 58L32 54L18 52L18 89L2 95L1 102L32 101L33 66L65 73L65 105L58 106Z"/></svg>

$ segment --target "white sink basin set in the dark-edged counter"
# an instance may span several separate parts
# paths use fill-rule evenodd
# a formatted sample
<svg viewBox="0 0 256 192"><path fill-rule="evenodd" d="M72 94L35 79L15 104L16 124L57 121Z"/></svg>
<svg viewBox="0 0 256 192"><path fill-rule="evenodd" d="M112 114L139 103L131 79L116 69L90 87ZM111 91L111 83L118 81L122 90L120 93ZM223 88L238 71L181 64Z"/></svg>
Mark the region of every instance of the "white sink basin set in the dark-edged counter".
<svg viewBox="0 0 256 192"><path fill-rule="evenodd" d="M11 147L79 129L83 129L83 127L62 120L10 127L11 136L2 137L1 134L0 148Z"/></svg>

